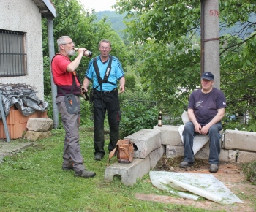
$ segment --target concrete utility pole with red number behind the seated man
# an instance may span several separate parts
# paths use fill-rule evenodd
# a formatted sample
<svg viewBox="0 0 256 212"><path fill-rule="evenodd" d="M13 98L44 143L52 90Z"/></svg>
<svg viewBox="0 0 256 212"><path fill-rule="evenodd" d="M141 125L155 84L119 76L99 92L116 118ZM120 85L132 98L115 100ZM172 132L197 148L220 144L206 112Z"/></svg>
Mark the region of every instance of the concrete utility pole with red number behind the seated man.
<svg viewBox="0 0 256 212"><path fill-rule="evenodd" d="M201 0L201 75L211 72L220 88L219 0Z"/></svg>

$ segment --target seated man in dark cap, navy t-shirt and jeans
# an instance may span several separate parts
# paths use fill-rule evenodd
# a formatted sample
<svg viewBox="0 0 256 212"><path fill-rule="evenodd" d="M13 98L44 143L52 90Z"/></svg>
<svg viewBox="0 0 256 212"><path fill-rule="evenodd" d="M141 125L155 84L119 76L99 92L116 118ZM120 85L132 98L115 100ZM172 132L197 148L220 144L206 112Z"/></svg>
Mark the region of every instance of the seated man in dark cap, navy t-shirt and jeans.
<svg viewBox="0 0 256 212"><path fill-rule="evenodd" d="M211 173L219 170L220 138L222 130L221 120L225 115L225 95L214 88L214 75L211 72L203 73L201 89L193 91L189 97L187 114L189 121L184 126L184 161L180 167L194 165L193 141L195 135L208 135L210 141L209 164Z"/></svg>

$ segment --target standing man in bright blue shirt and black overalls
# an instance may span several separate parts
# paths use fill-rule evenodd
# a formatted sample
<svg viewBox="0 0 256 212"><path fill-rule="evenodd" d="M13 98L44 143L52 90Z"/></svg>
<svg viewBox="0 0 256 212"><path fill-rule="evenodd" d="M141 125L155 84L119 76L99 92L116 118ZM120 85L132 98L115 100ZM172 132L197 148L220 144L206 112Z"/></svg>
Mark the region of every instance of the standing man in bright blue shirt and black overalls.
<svg viewBox="0 0 256 212"><path fill-rule="evenodd" d="M110 127L110 143L108 151L116 148L119 140L119 123L121 111L118 99L117 80L119 80L119 94L124 92L125 78L121 63L115 56L110 56L111 44L107 39L99 42L100 55L91 59L83 81L83 87L88 91L90 80L94 88L94 159L100 161L105 156L104 150L104 119L108 110L108 124ZM110 67L109 67L110 64ZM97 70L99 69L99 76ZM104 80L105 79L105 80Z"/></svg>

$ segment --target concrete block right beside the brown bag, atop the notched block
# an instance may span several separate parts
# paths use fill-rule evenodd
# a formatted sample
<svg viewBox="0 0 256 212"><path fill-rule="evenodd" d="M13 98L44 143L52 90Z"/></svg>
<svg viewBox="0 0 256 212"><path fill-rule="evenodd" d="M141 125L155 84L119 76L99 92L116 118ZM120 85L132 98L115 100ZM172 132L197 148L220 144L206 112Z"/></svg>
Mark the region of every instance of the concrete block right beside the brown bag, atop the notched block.
<svg viewBox="0 0 256 212"><path fill-rule="evenodd" d="M146 158L151 151L161 146L161 131L158 129L141 129L138 132L124 137L129 139L137 146L134 152L135 158Z"/></svg>

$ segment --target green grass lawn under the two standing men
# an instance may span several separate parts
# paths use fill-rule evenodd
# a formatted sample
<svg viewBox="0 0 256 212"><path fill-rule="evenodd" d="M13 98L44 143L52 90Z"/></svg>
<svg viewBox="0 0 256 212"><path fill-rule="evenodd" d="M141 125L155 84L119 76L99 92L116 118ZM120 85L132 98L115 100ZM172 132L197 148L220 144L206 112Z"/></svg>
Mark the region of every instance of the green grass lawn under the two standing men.
<svg viewBox="0 0 256 212"><path fill-rule="evenodd" d="M149 175L134 186L124 186L118 176L105 182L107 156L94 161L93 134L84 128L80 128L81 152L86 168L97 175L75 178L73 171L61 170L64 130L52 132L52 137L5 157L0 164L0 211L206 211L136 199L136 193L171 196L154 188ZM106 150L107 144L108 140Z"/></svg>

